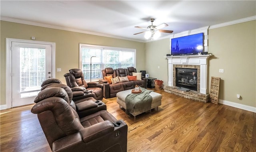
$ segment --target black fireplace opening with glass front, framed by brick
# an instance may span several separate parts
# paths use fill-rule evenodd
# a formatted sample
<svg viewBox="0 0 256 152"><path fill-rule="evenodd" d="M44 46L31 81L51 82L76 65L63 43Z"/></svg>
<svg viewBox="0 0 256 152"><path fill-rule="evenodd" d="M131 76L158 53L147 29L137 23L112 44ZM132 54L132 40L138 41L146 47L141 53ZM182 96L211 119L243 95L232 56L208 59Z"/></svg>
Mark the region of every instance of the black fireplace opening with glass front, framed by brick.
<svg viewBox="0 0 256 152"><path fill-rule="evenodd" d="M197 69L176 68L176 87L197 91Z"/></svg>

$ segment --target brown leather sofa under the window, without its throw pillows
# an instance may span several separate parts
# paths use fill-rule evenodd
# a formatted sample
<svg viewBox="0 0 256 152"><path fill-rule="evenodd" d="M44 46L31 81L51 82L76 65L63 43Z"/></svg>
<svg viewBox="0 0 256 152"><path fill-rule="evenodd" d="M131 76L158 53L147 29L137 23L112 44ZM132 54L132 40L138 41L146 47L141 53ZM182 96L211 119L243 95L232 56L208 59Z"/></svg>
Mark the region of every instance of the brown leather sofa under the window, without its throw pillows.
<svg viewBox="0 0 256 152"><path fill-rule="evenodd" d="M134 68L134 71L136 72L136 69ZM120 83L115 83L115 84L110 84L108 83L104 77L105 76L110 76L112 75L113 78L115 77L126 77L127 75L132 75L128 74L128 69L124 68L118 68L118 69L113 69L112 67L106 67L105 69L102 70L102 75L103 79L100 80L100 84L103 84L103 96L104 98L111 98L111 97L116 97L116 93L128 89L134 89L135 85L139 85L140 87L145 87L146 88L146 79L142 78L142 80L137 80L137 81L126 81L126 82L120 82Z"/></svg>

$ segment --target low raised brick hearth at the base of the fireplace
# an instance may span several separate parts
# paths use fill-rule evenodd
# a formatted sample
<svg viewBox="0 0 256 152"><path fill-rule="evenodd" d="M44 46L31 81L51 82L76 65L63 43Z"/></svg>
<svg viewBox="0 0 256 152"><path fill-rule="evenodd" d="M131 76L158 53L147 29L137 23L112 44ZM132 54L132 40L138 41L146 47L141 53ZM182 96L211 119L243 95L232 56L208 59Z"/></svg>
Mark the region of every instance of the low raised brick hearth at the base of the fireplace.
<svg viewBox="0 0 256 152"><path fill-rule="evenodd" d="M209 94L202 94L202 93L199 93L198 91L190 90L186 92L186 91L178 90L177 87L171 87L171 86L166 86L164 88L164 91L168 93L172 93L174 95L178 95L180 97L184 97L184 98L195 100L195 101L200 101L203 103L207 103L209 101Z"/></svg>

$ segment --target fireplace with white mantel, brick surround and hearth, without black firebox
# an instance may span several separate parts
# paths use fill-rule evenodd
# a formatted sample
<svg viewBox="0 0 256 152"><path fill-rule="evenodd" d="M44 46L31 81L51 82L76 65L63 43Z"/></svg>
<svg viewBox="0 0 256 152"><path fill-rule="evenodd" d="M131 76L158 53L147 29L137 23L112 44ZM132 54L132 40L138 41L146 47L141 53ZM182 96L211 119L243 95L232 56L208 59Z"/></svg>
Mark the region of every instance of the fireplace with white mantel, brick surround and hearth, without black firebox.
<svg viewBox="0 0 256 152"><path fill-rule="evenodd" d="M210 56L211 55L188 55L166 57L168 59L168 86L164 88L164 91L195 101L208 102L207 63ZM175 83L177 67L197 69L197 91L190 90L186 92L177 89Z"/></svg>

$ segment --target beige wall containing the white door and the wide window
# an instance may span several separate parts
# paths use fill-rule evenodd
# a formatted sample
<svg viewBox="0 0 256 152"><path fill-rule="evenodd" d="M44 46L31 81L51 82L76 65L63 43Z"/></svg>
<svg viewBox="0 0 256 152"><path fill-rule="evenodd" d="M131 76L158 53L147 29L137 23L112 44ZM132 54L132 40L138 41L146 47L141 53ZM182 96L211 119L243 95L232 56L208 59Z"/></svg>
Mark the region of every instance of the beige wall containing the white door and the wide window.
<svg viewBox="0 0 256 152"><path fill-rule="evenodd" d="M145 43L5 21L1 21L0 23L0 105L6 104L6 38L30 40L30 38L34 36L36 37L36 41L55 42L56 68L62 69L61 72L56 72L56 78L60 79L63 83L66 83L63 75L67 73L69 69L79 68L79 43L136 49L136 68L138 71L145 69Z"/></svg>

